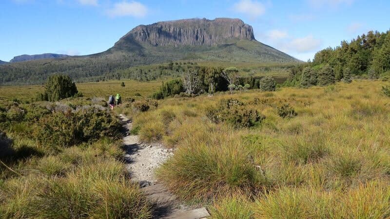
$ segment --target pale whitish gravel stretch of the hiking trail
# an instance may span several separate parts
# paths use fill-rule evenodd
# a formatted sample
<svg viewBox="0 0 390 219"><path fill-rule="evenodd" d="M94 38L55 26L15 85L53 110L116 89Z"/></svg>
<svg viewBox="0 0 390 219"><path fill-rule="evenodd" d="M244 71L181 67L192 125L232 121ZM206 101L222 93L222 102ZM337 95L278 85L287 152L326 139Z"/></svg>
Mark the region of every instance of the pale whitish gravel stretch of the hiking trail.
<svg viewBox="0 0 390 219"><path fill-rule="evenodd" d="M119 115L125 124L127 136L123 138L126 154L127 170L131 174L132 181L146 185L156 183L155 171L173 155L172 149L166 149L161 143L145 144L139 141L137 135L130 135L132 121L123 114Z"/></svg>

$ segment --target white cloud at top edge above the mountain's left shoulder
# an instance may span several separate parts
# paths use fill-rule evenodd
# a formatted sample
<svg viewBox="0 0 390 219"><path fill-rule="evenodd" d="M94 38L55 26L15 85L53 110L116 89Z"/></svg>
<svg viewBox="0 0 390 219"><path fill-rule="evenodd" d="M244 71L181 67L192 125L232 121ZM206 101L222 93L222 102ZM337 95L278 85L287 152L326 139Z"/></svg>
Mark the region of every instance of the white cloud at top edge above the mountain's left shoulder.
<svg viewBox="0 0 390 219"><path fill-rule="evenodd" d="M115 3L111 9L106 11L110 17L132 16L132 17L145 17L148 13L148 8L137 1L122 1Z"/></svg>

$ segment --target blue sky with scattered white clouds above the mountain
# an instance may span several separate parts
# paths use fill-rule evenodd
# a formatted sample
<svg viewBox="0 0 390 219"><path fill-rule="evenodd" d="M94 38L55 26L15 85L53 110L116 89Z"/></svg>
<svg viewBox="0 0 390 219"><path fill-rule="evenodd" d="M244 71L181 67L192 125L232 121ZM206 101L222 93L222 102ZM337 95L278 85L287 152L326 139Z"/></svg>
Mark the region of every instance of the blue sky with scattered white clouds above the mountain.
<svg viewBox="0 0 390 219"><path fill-rule="evenodd" d="M301 60L369 30L390 29L388 0L0 0L0 60L88 55L132 28L182 18L241 18L258 41Z"/></svg>

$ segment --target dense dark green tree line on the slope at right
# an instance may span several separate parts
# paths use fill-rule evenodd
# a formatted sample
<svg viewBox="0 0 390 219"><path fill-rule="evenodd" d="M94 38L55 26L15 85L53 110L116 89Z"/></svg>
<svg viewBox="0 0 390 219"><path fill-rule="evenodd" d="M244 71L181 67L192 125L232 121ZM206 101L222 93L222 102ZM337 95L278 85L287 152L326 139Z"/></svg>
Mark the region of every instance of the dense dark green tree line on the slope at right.
<svg viewBox="0 0 390 219"><path fill-rule="evenodd" d="M370 31L351 42L343 40L340 46L321 50L312 61L289 71L283 85L303 88L337 81L351 83L352 77L376 79L390 74L390 31Z"/></svg>

